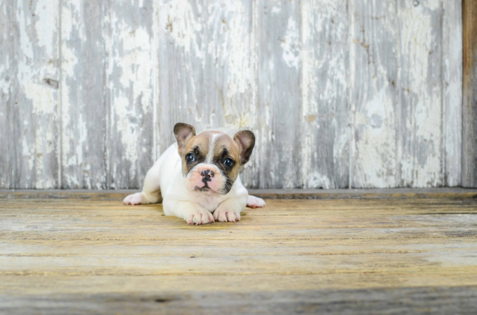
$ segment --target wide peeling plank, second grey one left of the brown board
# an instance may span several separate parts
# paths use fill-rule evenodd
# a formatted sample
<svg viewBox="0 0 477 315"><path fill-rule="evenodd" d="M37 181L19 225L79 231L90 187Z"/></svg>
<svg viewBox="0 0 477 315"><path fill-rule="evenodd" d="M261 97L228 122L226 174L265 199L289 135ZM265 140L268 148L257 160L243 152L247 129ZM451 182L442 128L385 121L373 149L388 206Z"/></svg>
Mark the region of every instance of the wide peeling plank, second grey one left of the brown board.
<svg viewBox="0 0 477 315"><path fill-rule="evenodd" d="M442 3L440 0L398 3L400 186L441 186Z"/></svg>

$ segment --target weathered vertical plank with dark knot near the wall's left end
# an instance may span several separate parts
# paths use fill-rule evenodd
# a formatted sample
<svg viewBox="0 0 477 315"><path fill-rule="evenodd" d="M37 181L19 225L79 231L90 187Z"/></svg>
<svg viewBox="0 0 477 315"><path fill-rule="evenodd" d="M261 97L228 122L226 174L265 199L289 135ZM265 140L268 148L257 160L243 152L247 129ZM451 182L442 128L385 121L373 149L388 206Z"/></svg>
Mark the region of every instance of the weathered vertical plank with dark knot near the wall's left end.
<svg viewBox="0 0 477 315"><path fill-rule="evenodd" d="M13 2L13 106L15 187L58 184L59 5L56 1Z"/></svg>

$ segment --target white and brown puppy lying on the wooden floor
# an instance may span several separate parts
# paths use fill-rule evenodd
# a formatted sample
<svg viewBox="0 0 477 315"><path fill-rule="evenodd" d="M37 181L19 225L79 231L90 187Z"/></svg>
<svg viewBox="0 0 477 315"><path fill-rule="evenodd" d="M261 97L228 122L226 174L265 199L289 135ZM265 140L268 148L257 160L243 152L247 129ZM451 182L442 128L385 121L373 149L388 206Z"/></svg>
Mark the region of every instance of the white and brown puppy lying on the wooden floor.
<svg viewBox="0 0 477 315"><path fill-rule="evenodd" d="M162 200L166 216L188 224L235 222L245 206L265 206L263 199L248 195L238 176L254 149L254 133L242 130L233 139L217 131L196 135L193 126L178 123L174 135L177 143L149 169L143 191L126 197L125 204Z"/></svg>

